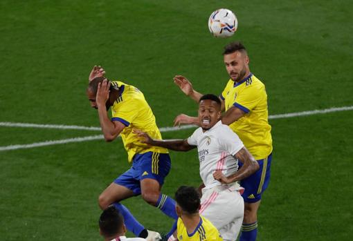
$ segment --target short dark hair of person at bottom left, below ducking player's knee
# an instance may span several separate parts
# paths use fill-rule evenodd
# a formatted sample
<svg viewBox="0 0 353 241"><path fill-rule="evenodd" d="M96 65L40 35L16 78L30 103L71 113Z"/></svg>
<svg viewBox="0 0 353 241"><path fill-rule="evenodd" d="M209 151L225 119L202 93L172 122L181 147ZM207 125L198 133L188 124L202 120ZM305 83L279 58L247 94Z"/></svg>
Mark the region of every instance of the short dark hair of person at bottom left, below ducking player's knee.
<svg viewBox="0 0 353 241"><path fill-rule="evenodd" d="M99 218L99 227L102 235L110 237L116 235L123 227L123 215L113 205L108 206Z"/></svg>

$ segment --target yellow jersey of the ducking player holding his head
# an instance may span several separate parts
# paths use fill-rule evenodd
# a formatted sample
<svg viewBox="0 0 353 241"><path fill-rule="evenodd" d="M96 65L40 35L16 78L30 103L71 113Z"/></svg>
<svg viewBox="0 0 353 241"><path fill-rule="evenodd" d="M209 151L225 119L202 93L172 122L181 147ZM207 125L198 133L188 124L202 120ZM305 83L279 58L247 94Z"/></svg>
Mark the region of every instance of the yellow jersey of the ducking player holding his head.
<svg viewBox="0 0 353 241"><path fill-rule="evenodd" d="M149 151L168 153L165 148L141 143L138 136L132 133L132 130L136 128L147 133L153 139L162 139L159 128L156 125L156 118L143 93L138 88L129 86L121 81L111 81L111 85L120 89L118 99L111 106L111 121L118 121L125 125L120 135L123 139L129 162L132 162L135 154L143 154Z"/></svg>

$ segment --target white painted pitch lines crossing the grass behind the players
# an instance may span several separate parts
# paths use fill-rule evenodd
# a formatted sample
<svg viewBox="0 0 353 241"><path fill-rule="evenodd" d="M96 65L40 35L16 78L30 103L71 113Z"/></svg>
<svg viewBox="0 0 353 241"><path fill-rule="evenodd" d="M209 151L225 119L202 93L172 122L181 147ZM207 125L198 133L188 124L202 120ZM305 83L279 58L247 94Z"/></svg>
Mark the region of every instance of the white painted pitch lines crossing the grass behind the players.
<svg viewBox="0 0 353 241"><path fill-rule="evenodd" d="M269 115L269 119L282 119L282 118L291 118L291 117L300 117L305 115L316 115L316 114L325 114L332 113L337 111L344 110L353 110L353 106L343 106L343 107L333 107L327 108L324 110L308 110L296 113L286 113L280 115ZM0 122L0 126L8 126L8 127L27 127L27 128L55 128L55 129L73 129L73 130L87 130L87 131L100 131L100 127L93 126L65 126L65 125L52 125L52 124L30 124L30 123L13 123L13 122ZM185 126L174 126L174 127L162 127L159 128L161 132L170 132L170 131L179 131L182 129L195 128L194 125L185 125ZM50 146L55 144L66 144L71 142L86 142L96 139L103 139L102 135L91 135L87 137L76 137L71 139L60 139L54 141L46 141L46 142L36 142L32 144L21 144L21 145L10 145L10 146L0 146L0 151L9 151L9 150L17 150L23 148L34 148L38 146Z"/></svg>

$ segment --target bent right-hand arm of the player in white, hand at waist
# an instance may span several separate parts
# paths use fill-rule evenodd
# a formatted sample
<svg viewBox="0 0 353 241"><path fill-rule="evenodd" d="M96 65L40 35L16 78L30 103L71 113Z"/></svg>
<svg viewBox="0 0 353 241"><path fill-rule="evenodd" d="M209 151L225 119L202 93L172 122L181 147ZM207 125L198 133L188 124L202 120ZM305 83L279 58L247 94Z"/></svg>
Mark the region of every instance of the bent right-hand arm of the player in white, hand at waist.
<svg viewBox="0 0 353 241"><path fill-rule="evenodd" d="M236 173L228 177L226 177L221 171L215 171L215 173L213 173L215 180L218 180L221 183L236 182L243 180L260 168L253 155L251 155L245 147L235 154L235 158L244 163L243 166Z"/></svg>

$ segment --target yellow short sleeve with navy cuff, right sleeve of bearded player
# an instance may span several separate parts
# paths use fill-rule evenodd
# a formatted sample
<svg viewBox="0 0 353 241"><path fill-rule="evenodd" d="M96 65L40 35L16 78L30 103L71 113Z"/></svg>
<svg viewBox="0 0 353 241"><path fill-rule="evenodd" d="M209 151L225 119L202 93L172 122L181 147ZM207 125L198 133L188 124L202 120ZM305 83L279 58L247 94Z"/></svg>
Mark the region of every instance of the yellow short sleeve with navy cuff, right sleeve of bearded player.
<svg viewBox="0 0 353 241"><path fill-rule="evenodd" d="M249 113L262 101L264 95L266 93L262 91L262 88L247 86L241 93L238 93L233 106L243 110L245 113Z"/></svg>

